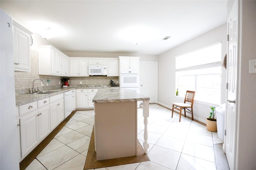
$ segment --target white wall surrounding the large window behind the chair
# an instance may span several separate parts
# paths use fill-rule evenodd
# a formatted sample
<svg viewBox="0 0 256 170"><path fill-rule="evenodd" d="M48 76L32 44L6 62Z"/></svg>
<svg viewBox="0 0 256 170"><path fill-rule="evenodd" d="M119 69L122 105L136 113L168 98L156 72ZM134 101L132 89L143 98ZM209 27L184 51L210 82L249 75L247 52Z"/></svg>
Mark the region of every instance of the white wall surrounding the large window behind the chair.
<svg viewBox="0 0 256 170"><path fill-rule="evenodd" d="M201 49L208 45L222 41L222 61L226 55L227 25L221 25L204 33L178 47L170 49L158 56L158 103L172 107L173 102L184 102L184 97L175 96L175 57ZM226 70L222 68L221 103L225 103ZM170 101L168 100L170 98ZM212 105L214 106L214 105ZM205 123L209 115L210 104L194 102L194 119Z"/></svg>

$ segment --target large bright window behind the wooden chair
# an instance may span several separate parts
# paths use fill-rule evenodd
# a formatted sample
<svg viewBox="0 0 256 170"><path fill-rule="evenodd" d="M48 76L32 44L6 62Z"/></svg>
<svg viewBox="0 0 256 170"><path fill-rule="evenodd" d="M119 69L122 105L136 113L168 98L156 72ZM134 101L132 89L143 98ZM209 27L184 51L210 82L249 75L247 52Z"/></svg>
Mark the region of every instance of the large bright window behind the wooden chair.
<svg viewBox="0 0 256 170"><path fill-rule="evenodd" d="M176 57L176 89L196 91L195 100L220 104L221 43Z"/></svg>

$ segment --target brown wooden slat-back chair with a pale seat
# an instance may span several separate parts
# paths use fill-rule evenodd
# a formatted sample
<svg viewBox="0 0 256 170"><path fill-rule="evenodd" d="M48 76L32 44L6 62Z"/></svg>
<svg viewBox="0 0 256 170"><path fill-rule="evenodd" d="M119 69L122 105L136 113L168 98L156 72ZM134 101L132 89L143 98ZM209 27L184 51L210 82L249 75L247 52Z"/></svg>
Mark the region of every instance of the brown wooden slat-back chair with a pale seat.
<svg viewBox="0 0 256 170"><path fill-rule="evenodd" d="M173 103L172 104L172 116L173 116L173 110L179 110L180 111L180 119L181 119L181 111L182 109L184 109L184 116L186 117L186 109L191 108L191 110L189 110L191 112L192 115L192 120L194 120L193 117L193 104L194 104L194 97L195 97L195 93L194 91L188 91L186 92L186 96L184 99L184 103ZM190 104L187 104L186 102L190 102Z"/></svg>

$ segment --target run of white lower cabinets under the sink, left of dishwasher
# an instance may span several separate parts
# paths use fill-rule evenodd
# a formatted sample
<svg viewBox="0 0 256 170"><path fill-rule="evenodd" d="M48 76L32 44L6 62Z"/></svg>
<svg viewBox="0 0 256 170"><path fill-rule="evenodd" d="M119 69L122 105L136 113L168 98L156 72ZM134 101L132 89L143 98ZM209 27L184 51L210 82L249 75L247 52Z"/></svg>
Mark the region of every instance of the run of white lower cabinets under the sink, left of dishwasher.
<svg viewBox="0 0 256 170"><path fill-rule="evenodd" d="M50 103L50 105L49 105ZM63 93L16 107L20 160L64 120Z"/></svg>

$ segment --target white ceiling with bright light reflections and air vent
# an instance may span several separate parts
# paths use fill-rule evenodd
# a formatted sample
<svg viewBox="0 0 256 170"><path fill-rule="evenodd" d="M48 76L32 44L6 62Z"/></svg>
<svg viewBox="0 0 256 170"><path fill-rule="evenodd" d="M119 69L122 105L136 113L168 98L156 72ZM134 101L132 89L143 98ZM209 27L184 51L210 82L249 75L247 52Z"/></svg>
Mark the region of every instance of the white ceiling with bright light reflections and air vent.
<svg viewBox="0 0 256 170"><path fill-rule="evenodd" d="M0 6L30 31L46 22L57 29L47 41L76 52L158 55L227 21L227 0L1 0ZM136 34L146 37L120 36L131 27L142 27Z"/></svg>

